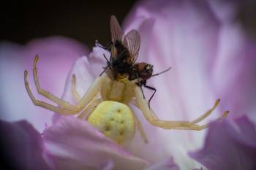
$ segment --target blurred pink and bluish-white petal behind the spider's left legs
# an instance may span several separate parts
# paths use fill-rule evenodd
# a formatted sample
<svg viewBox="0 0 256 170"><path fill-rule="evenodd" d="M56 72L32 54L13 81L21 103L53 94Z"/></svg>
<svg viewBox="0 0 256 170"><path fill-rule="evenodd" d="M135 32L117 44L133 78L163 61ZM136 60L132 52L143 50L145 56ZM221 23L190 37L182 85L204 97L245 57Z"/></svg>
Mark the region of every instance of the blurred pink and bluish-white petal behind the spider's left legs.
<svg viewBox="0 0 256 170"><path fill-rule="evenodd" d="M45 39L35 39L27 45L16 45L10 42L0 44L0 94L1 119L26 119L34 127L42 131L45 123L50 124L52 112L35 107L26 93L23 74L29 71L29 83L34 96L37 95L32 78L34 56L39 55L39 82L41 87L61 97L67 74L75 59L86 54L86 47L75 40L54 36Z"/></svg>

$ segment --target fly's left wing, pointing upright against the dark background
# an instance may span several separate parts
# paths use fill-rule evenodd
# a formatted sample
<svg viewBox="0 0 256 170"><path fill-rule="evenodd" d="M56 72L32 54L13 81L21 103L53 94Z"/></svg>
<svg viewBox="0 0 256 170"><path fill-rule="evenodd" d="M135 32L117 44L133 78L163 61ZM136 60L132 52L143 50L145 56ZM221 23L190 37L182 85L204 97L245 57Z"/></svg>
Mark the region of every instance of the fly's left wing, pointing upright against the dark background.
<svg viewBox="0 0 256 170"><path fill-rule="evenodd" d="M110 31L111 31L112 42L115 42L116 39L120 41L122 40L122 36L124 35L124 32L121 29L121 26L119 25L115 15L112 15L110 18Z"/></svg>

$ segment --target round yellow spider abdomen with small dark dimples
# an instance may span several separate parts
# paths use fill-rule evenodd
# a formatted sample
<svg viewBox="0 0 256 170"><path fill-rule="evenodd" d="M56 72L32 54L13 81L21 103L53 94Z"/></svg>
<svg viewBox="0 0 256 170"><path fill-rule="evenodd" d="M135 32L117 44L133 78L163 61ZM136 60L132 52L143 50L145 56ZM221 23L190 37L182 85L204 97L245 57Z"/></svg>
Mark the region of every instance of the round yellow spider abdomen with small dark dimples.
<svg viewBox="0 0 256 170"><path fill-rule="evenodd" d="M135 119L132 110L117 101L102 101L87 117L102 134L118 144L132 141L135 135Z"/></svg>

